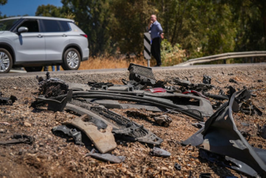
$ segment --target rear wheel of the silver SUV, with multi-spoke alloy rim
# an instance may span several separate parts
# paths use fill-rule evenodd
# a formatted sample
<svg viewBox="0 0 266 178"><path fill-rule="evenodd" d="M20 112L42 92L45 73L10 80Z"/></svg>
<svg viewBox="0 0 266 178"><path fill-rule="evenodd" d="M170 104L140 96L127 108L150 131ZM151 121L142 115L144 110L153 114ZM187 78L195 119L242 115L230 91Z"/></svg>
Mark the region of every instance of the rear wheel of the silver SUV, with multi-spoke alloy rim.
<svg viewBox="0 0 266 178"><path fill-rule="evenodd" d="M69 48L64 53L62 68L64 70L77 70L80 67L81 57L78 50Z"/></svg>

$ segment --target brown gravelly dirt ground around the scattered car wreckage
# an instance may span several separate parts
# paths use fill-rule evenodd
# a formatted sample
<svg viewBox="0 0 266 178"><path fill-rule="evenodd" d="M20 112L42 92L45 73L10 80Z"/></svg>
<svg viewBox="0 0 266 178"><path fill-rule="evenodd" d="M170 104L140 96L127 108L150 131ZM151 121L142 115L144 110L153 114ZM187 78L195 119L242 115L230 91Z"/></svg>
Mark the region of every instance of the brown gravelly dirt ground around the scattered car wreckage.
<svg viewBox="0 0 266 178"><path fill-rule="evenodd" d="M237 112L233 113L233 118L239 129L245 129L249 133L249 143L252 146L266 149L265 139L257 135L258 125L266 124L265 63L196 69L156 68L153 73L157 80L170 81L177 77L180 79L187 77L194 84L202 83L203 75L211 76L211 84L216 86L210 91L213 94L218 94L220 89L227 92L228 86L233 86L237 90L245 86L253 90L252 93L256 97L251 98L252 102L263 112L263 115L246 115ZM45 77L44 72L38 75ZM200 158L197 147L180 144L198 130L192 126L192 123L198 121L182 114L168 113L173 122L169 127L161 127L155 124L151 117L162 113L134 109L130 112L113 110L144 125L145 128L162 138L160 148L171 153L168 158L151 156L150 147L146 144L121 140L116 140L118 146L111 152L116 156L126 156L125 161L120 164L111 164L86 156L90 151L88 148L76 145L68 137L59 137L51 132L54 126L61 125L62 122L78 117L78 115L66 110L53 112L47 110L47 107L39 109L30 107L39 88L35 77L35 75L21 74L12 77L0 75L2 97L10 95L17 97L13 105L0 105L0 141L9 140L14 133L33 136L35 139L31 145L27 143L0 145L0 177L199 177L201 173L210 173L212 177L240 177L241 175L240 172ZM51 73L51 77L82 84L87 84L88 81L121 84L121 79L128 80L129 72L126 70L98 73L79 71L79 73L71 74L54 72ZM237 83L229 82L230 79L234 79ZM132 113L138 114L133 118ZM242 122L249 123L249 126L244 127L241 125ZM181 165L181 170L174 168L175 163Z"/></svg>

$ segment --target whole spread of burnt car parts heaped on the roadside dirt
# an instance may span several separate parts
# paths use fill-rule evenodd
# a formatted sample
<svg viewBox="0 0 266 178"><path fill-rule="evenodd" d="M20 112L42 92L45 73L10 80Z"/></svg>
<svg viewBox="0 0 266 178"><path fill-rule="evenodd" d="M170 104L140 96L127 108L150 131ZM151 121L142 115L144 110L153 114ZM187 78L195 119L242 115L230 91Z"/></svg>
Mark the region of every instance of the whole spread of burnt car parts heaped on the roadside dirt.
<svg viewBox="0 0 266 178"><path fill-rule="evenodd" d="M228 87L226 92L220 89L218 94L211 94L209 90L215 88L211 76L205 75L202 83L193 84L188 78L157 81L151 68L136 64L130 64L128 71L129 81L123 79L124 85L94 81L65 83L49 74L46 80L38 77L40 91L32 107L47 104L48 110L76 113L76 118L54 126L52 131L61 131L81 145L81 133L85 134L94 146L86 156L110 163L125 161L125 157L111 154L118 140L142 142L151 148L151 156L171 157L171 150L160 148L163 143L160 137L112 109L162 112L154 115L153 122L163 129L171 127L172 119L167 113L181 113L199 128L182 145L197 146L202 158L221 166L249 176L266 176L265 150L249 145L244 137L248 131L238 130L232 116L232 112L262 115L247 89L236 92ZM264 137L265 130L265 126L258 128L258 134ZM178 163L173 166L181 170Z"/></svg>

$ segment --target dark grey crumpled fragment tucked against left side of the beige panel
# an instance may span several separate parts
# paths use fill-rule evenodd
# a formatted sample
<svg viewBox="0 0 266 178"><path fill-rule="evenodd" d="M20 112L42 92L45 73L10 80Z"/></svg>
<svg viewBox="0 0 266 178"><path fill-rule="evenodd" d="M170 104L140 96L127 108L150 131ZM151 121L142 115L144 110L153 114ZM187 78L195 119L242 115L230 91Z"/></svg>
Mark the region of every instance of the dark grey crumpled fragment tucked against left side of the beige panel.
<svg viewBox="0 0 266 178"><path fill-rule="evenodd" d="M81 132L77 131L75 128L68 128L66 125L59 125L52 128L52 132L58 131L72 137L76 144L83 145Z"/></svg>

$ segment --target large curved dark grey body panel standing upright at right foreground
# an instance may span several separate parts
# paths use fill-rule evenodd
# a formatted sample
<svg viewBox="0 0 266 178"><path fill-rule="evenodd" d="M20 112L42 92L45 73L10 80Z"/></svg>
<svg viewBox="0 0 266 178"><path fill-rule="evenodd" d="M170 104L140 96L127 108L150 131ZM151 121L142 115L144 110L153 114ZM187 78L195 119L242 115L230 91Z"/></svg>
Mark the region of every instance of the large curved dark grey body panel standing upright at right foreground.
<svg viewBox="0 0 266 178"><path fill-rule="evenodd" d="M232 159L244 162L254 169L262 177L266 176L266 164L260 156L249 145L246 139L241 135L233 121L232 111L236 100L245 98L245 91L239 94L236 92L231 96L229 102L220 107L213 116L205 122L203 130L204 141L203 149L216 154L228 156ZM221 133L223 133L221 135ZM265 151L265 150L264 150ZM239 171L246 172L244 165L239 166ZM256 176L256 174L249 174Z"/></svg>

